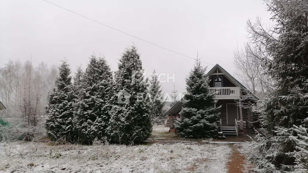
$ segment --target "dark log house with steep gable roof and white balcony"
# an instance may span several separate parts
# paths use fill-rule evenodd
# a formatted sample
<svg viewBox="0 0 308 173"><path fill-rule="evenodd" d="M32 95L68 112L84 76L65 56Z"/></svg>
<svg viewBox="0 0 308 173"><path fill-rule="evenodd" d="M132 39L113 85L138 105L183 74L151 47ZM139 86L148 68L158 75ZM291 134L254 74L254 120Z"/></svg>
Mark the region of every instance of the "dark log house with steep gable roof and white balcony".
<svg viewBox="0 0 308 173"><path fill-rule="evenodd" d="M257 101L257 97L218 64L206 76L211 79L209 90L215 93L217 99L217 103L213 106L221 106L221 115L217 122L220 133L226 135L247 133L247 129L253 127L252 105ZM182 102L183 98L165 113L168 116L165 125L170 127L170 131L176 131L174 120L180 118Z"/></svg>

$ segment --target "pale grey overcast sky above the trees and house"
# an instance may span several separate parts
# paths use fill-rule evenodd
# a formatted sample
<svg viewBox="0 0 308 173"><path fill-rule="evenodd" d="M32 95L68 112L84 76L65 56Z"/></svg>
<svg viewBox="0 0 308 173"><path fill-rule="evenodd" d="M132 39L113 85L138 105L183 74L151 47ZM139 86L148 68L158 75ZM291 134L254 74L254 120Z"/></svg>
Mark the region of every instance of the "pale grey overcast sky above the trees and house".
<svg viewBox="0 0 308 173"><path fill-rule="evenodd" d="M262 0L216 1L101 1L49 0L154 44L210 64L220 64L234 74L233 51L247 42L247 19L260 16L266 23L270 13ZM64 57L75 71L85 68L88 57L102 54L117 70L117 62L127 46L135 44L143 68L149 76L175 74L179 92L185 91L185 77L194 60L164 50L119 31L82 18L43 0L0 1L0 66L9 60L30 59L34 65L58 65ZM203 63L204 66L208 64ZM208 70L213 65L208 65ZM162 77L162 80L165 78ZM173 82L163 83L171 93Z"/></svg>

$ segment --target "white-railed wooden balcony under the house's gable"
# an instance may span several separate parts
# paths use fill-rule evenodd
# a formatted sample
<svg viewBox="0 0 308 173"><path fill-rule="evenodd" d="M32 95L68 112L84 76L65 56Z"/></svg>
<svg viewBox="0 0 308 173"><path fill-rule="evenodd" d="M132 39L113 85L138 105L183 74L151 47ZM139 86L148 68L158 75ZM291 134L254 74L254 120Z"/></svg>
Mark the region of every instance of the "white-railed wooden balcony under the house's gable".
<svg viewBox="0 0 308 173"><path fill-rule="evenodd" d="M240 87L210 87L214 92L216 99L240 99Z"/></svg>

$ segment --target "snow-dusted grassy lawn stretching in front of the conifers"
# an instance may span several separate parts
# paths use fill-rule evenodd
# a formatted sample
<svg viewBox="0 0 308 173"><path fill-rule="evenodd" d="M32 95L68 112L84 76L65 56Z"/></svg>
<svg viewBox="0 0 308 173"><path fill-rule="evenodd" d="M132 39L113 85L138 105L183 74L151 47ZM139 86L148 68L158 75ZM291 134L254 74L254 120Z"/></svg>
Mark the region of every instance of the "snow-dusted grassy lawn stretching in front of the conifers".
<svg viewBox="0 0 308 173"><path fill-rule="evenodd" d="M165 130L154 127L153 135L164 134L168 138ZM228 145L183 141L136 146L3 142L0 143L0 170L16 173L227 172L225 165L231 151Z"/></svg>

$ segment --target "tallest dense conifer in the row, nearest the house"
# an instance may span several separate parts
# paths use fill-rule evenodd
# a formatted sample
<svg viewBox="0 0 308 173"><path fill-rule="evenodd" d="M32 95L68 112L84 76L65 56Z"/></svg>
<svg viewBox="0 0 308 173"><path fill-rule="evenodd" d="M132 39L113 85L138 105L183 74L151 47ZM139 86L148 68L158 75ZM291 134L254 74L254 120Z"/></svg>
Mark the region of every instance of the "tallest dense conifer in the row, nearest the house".
<svg viewBox="0 0 308 173"><path fill-rule="evenodd" d="M148 93L148 79L144 77L144 70L140 54L135 46L125 50L115 73L111 119L108 133L114 143L132 144L148 139L152 133L151 116L149 115L149 99L143 101Z"/></svg>

